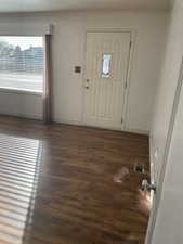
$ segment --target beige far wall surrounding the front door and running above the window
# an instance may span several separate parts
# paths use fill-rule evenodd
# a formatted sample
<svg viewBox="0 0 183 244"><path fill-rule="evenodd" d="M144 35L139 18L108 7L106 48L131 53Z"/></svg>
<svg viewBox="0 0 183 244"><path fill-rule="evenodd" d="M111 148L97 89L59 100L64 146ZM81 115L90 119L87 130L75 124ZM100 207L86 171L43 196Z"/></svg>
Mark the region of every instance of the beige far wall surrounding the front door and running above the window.
<svg viewBox="0 0 183 244"><path fill-rule="evenodd" d="M84 31L92 29L130 28L135 33L133 61L131 63L130 92L127 110L127 129L148 131L155 89L166 43L169 14L167 12L60 12L45 14L1 15L3 26L22 29L53 24L53 93L54 120L82 124L82 75L75 74L74 66L83 72Z"/></svg>

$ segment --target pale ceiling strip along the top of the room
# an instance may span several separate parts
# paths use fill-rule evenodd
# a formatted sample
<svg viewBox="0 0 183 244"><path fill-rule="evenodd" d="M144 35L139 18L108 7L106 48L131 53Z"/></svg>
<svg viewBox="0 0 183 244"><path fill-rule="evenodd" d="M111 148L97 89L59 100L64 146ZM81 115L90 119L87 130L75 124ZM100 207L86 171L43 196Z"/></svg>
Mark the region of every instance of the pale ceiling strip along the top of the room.
<svg viewBox="0 0 183 244"><path fill-rule="evenodd" d="M0 0L0 12L62 10L167 10L172 0Z"/></svg>

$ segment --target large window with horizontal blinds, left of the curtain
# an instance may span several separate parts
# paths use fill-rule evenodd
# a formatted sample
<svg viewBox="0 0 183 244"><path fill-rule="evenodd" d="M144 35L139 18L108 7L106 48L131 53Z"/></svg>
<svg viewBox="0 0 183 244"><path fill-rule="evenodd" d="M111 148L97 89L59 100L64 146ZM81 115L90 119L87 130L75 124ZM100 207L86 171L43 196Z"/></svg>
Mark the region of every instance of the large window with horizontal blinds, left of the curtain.
<svg viewBox="0 0 183 244"><path fill-rule="evenodd" d="M43 38L0 37L0 88L42 92Z"/></svg>

